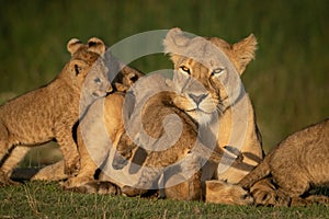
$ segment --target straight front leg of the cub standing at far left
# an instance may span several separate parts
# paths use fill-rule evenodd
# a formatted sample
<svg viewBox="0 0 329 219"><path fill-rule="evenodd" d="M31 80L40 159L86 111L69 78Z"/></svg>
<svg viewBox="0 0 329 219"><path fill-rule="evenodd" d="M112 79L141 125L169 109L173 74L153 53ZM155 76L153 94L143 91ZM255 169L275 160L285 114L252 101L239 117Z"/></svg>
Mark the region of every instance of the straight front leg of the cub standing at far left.
<svg viewBox="0 0 329 219"><path fill-rule="evenodd" d="M73 175L80 168L80 154L73 139L72 127L60 126L55 135L64 159L64 172L68 175Z"/></svg>

